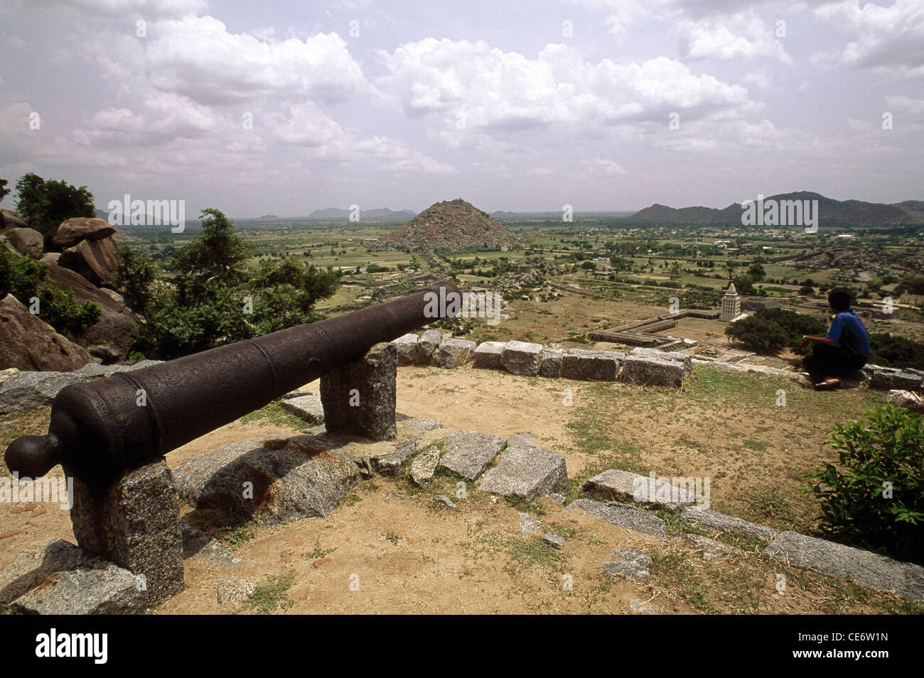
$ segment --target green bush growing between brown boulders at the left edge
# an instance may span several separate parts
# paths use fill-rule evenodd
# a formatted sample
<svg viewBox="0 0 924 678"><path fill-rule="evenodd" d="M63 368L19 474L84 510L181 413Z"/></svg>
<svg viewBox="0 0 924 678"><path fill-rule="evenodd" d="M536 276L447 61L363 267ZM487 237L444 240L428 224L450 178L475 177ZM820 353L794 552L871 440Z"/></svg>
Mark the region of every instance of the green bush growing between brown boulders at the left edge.
<svg viewBox="0 0 924 678"><path fill-rule="evenodd" d="M48 280L48 269L42 264L0 248L0 299L6 294L26 306L37 298L39 318L71 339L78 338L102 315L95 303L77 303L73 291L62 290Z"/></svg>

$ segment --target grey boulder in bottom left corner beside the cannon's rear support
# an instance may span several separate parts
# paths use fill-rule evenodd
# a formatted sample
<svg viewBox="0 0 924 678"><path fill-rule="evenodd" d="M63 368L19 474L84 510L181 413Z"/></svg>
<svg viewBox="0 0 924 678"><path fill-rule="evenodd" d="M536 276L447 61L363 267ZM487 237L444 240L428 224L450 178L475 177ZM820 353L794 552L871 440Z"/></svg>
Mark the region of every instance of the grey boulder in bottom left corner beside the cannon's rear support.
<svg viewBox="0 0 924 678"><path fill-rule="evenodd" d="M0 602L31 614L143 614L146 596L127 569L49 537L0 573Z"/></svg>

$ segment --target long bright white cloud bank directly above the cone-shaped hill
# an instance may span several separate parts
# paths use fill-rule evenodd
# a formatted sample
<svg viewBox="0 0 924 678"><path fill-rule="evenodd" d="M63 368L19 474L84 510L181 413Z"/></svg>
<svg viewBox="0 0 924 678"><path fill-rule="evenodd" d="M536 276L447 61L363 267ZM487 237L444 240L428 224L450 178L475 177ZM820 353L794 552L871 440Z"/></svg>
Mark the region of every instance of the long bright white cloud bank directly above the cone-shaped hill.
<svg viewBox="0 0 924 678"><path fill-rule="evenodd" d="M661 56L641 64L609 59L591 64L560 44L534 59L486 42L408 42L380 52L390 75L379 78L408 115L437 116L450 136L465 130L492 137L549 125L617 125L657 119L671 111L691 118L755 111L747 90ZM456 135L457 136L457 135Z"/></svg>

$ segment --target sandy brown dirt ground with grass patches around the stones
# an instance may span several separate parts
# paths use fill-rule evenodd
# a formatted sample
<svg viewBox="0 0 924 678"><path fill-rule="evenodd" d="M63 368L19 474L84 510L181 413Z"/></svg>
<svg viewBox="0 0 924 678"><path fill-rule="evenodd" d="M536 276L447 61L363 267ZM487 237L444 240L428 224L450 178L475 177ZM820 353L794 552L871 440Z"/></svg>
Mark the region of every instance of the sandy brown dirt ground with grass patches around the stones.
<svg viewBox="0 0 924 678"><path fill-rule="evenodd" d="M718 372L718 371L715 371ZM751 379L738 382L735 380ZM831 458L823 448L830 423L858 416L881 398L865 389L835 396L800 394L794 407L772 405L772 379L697 372L683 391L622 384L551 381L461 369L402 367L397 410L436 418L445 428L509 436L529 432L565 455L573 487L615 466L659 475L712 478L712 508L758 519L778 529L810 524L817 511L798 494L799 472ZM317 393L317 383L308 389ZM748 391L742 396L741 391ZM836 398L836 399L835 399ZM566 404L567 403L567 404ZM44 433L48 410L5 415L0 443ZM173 468L197 455L258 435L298 432L296 422L233 422L180 447ZM634 468L630 468L634 467ZM60 473L60 468L55 470ZM0 465L0 473L8 475ZM219 605L225 579L268 584L286 577L283 613L882 613L902 601L853 584L785 567L760 555L762 543L722 537L743 550L723 563L706 562L672 538L663 543L615 528L549 499L514 506L457 479L438 475L419 490L403 478L361 482L327 518L273 529L247 525L225 545L243 565L188 560L186 589L155 613L240 613ZM433 501L452 497L457 509ZM191 509L183 506L187 516ZM520 511L565 537L555 551L523 534ZM0 505L0 567L46 536L74 541L67 511L50 505ZM221 533L218 533L221 536ZM651 577L636 581L600 572L614 548L652 554ZM784 594L776 589L785 574ZM269 590L269 589L268 589ZM265 592L265 591L264 591ZM272 598L272 596L271 596Z"/></svg>

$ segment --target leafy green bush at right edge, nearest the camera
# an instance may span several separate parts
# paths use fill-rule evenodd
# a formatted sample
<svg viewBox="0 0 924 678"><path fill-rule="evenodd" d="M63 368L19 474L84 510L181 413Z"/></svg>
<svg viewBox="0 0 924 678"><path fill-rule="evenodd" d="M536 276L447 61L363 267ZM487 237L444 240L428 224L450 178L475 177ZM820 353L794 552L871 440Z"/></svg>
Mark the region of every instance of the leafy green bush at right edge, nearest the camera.
<svg viewBox="0 0 924 678"><path fill-rule="evenodd" d="M865 421L835 424L829 445L839 450L840 468L827 463L806 476L821 501L822 530L899 558L924 559L920 415L881 405Z"/></svg>

